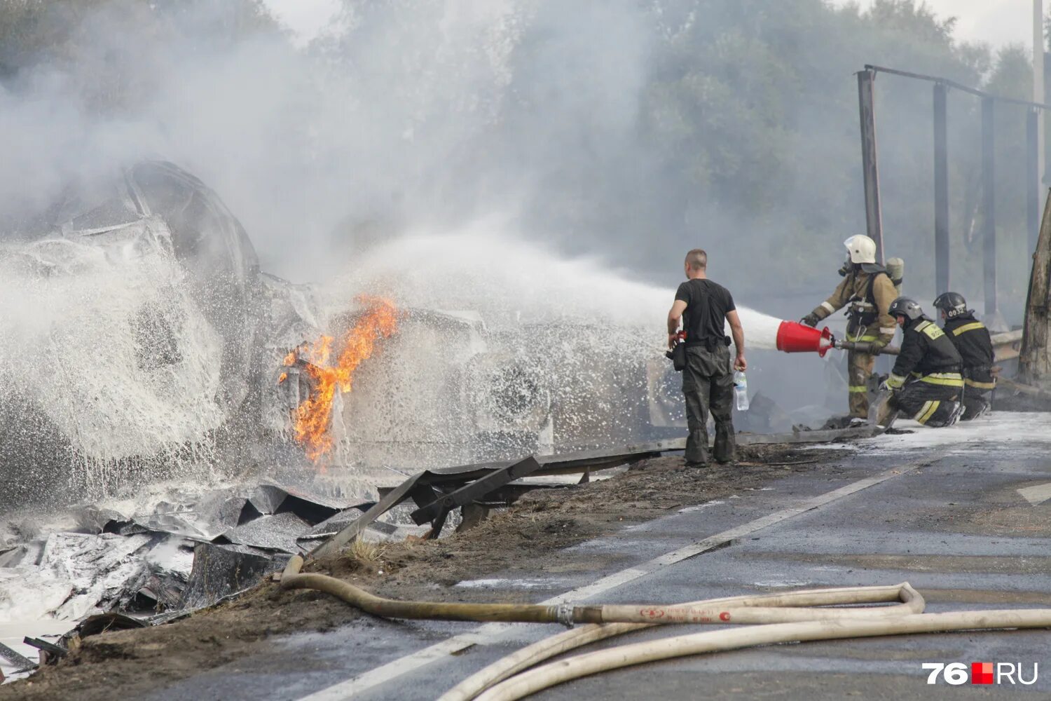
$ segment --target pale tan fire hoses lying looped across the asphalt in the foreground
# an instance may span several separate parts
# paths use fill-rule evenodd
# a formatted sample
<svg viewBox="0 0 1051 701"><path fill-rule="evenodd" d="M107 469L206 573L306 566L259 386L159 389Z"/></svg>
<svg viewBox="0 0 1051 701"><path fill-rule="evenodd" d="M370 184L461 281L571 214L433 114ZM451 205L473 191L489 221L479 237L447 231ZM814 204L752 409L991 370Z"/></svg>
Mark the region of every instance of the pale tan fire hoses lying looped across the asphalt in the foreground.
<svg viewBox="0 0 1051 701"><path fill-rule="evenodd" d="M529 645L460 682L439 701L514 701L581 677L658 660L779 642L836 640L951 631L1051 627L1051 610L923 613L923 597L907 582L897 586L804 590L783 594L707 599L672 605L475 604L397 601L321 574L302 574L294 556L281 578L285 590L331 594L362 611L394 618L470 621L588 622L589 625ZM897 605L812 609L859 603ZM602 624L596 624L603 621ZM662 623L758 623L676 636L578 655L535 666L591 642ZM530 668L532 667L532 668ZM517 675L517 676L515 676Z"/></svg>

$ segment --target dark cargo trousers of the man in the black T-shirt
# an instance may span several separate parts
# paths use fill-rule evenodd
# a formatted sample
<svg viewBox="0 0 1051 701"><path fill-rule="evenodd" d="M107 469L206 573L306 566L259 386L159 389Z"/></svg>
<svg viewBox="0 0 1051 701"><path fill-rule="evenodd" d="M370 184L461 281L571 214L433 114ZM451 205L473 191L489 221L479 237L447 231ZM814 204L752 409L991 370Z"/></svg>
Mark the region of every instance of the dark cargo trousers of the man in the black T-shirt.
<svg viewBox="0 0 1051 701"><path fill-rule="evenodd" d="M729 462L736 452L734 437L734 373L729 348L723 345L708 350L704 346L686 348L686 367L682 371L682 393L686 396L686 465L708 462L708 412L716 424L715 458Z"/></svg>

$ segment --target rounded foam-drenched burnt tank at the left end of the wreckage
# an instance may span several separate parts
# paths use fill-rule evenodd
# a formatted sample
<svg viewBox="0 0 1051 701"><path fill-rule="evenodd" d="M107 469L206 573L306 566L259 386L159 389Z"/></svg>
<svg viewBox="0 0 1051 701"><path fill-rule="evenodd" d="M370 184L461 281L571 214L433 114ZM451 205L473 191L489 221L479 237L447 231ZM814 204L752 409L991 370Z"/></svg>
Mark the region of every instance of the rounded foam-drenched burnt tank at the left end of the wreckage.
<svg viewBox="0 0 1051 701"><path fill-rule="evenodd" d="M263 282L255 251L241 224L212 190L170 163L139 163L102 189L104 194L92 199L67 195L34 222L40 234L0 252L5 271L34 281L83 276L90 285L98 284L96 279L107 269L115 276L123 274L126 267L122 264L129 261L176 265L145 268L147 273L166 273L151 281L160 292L143 294L140 304L128 304L123 318L116 319L123 322L123 328L105 330L114 339L112 347L94 349L97 372L106 375L105 383L81 376L87 373L53 377L23 373L15 376L14 388L0 390L4 392L0 460L6 477L0 487L0 507L48 501L65 487L74 494L95 487L77 482L75 468L85 462L104 465L120 475L133 473L149 460L179 459L207 432L230 425L228 418L257 412L260 398L253 390L259 382L253 368L261 359L256 319ZM142 292L125 291L129 296ZM83 300L61 302L76 306ZM88 306L84 316L91 316L92 311ZM81 319L84 324L91 321ZM51 348L84 341L62 328L61 322L43 335ZM129 341L129 348L121 347L122 338ZM192 344L214 353L207 365L188 348ZM129 357L119 356L121 350L129 351ZM38 352L46 353L47 348ZM129 360L129 367L119 367L122 359ZM39 391L48 382L61 382L65 391ZM102 412L187 389L206 393L203 404L208 411L192 405L178 407L195 415L177 422L195 431L162 433L153 446L143 439L154 436L145 434L118 435L108 446L85 440L87 431L112 428ZM137 397L137 393L148 396ZM67 403L77 406L63 406ZM76 418L70 412L78 412Z"/></svg>

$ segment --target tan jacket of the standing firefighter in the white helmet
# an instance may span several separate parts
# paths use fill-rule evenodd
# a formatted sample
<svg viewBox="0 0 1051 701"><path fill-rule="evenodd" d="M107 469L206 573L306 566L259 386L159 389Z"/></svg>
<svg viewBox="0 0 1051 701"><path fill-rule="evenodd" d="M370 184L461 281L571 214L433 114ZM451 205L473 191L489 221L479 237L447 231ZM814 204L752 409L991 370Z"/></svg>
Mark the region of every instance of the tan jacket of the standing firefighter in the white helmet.
<svg viewBox="0 0 1051 701"><path fill-rule="evenodd" d="M898 290L883 266L863 263L854 265L831 296L812 313L819 319L826 318L848 307L847 341L879 341L887 345L897 328L887 310L897 297Z"/></svg>

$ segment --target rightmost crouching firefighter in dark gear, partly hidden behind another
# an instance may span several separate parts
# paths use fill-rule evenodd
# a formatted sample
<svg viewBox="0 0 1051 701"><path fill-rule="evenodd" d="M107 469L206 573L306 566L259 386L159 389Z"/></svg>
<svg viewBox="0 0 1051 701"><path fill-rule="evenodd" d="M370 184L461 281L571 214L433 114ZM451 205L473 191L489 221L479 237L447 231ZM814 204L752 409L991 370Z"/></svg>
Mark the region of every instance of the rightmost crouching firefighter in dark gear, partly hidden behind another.
<svg viewBox="0 0 1051 701"><path fill-rule="evenodd" d="M967 308L967 300L959 292L937 295L934 307L945 319L942 329L964 359L964 413L960 420L969 421L989 411L996 387L989 329L974 318L974 310Z"/></svg>

